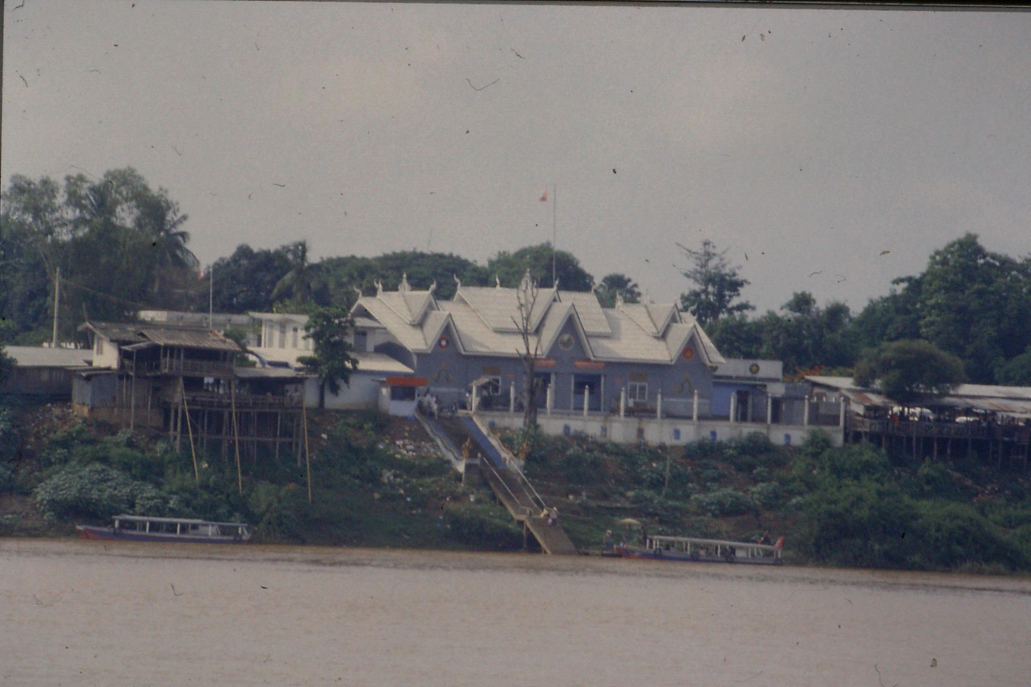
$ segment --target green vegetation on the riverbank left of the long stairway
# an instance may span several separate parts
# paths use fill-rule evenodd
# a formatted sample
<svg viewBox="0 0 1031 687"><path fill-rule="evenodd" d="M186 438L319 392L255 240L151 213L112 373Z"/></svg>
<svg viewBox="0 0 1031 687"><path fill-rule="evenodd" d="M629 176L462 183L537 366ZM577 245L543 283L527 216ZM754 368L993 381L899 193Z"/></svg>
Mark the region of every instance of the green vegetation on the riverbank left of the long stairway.
<svg viewBox="0 0 1031 687"><path fill-rule="evenodd" d="M511 550L522 533L489 491L463 486L437 455L408 440L391 442L375 414L319 415L321 439L312 455L312 499L293 459L247 460L243 489L235 465L207 457L195 480L189 452L166 441L73 423L51 432L27 465L10 460L22 428L0 410L0 487L31 499L46 524L70 533L72 523L108 524L119 513L245 521L263 542L415 546ZM3 534L28 534L16 518ZM33 530L34 534L40 534Z"/></svg>

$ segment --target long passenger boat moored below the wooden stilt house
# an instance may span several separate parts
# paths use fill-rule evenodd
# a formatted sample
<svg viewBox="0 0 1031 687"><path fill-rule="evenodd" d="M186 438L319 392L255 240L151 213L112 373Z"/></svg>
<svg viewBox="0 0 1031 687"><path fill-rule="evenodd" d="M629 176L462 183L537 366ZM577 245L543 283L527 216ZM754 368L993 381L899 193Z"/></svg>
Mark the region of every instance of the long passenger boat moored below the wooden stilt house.
<svg viewBox="0 0 1031 687"><path fill-rule="evenodd" d="M84 539L129 542L241 544L251 539L251 530L244 522L210 522L142 515L115 515L113 520L110 527L75 525L75 530Z"/></svg>

